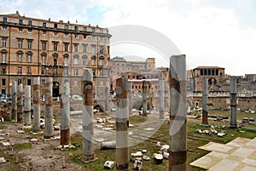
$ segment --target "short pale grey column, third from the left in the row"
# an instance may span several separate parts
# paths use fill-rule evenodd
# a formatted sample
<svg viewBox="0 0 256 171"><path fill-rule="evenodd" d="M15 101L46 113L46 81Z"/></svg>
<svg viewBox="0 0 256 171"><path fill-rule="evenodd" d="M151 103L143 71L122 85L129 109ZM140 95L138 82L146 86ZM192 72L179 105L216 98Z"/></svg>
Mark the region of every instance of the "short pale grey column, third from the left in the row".
<svg viewBox="0 0 256 171"><path fill-rule="evenodd" d="M25 86L24 125L31 125L31 87Z"/></svg>

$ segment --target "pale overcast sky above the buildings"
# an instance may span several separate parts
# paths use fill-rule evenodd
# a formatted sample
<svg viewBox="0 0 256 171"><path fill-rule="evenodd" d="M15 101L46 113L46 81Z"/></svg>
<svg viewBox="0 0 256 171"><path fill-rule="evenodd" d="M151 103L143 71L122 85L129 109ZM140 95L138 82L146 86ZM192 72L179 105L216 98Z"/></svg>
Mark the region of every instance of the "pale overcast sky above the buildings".
<svg viewBox="0 0 256 171"><path fill-rule="evenodd" d="M230 75L256 74L256 1L254 0L1 0L1 14L111 28L137 25L159 31L187 56L187 69L220 66ZM110 32L111 33L111 32ZM114 36L114 35L113 35ZM155 57L147 46L111 47L112 57ZM132 48L131 48L132 47ZM126 49L126 50L125 50ZM140 50L137 50L140 49ZM171 56L172 54L170 54Z"/></svg>

